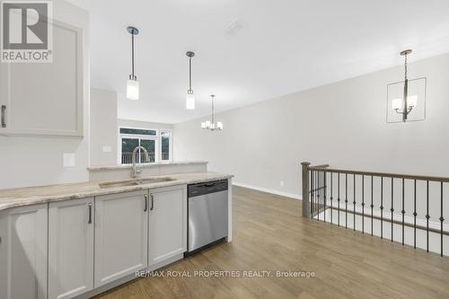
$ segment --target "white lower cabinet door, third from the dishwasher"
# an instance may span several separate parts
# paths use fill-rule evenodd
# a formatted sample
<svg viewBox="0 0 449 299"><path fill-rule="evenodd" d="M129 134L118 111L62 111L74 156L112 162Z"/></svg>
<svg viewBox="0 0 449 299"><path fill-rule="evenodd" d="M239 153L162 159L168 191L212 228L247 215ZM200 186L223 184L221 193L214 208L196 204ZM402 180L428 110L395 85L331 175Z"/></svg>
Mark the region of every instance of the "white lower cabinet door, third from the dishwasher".
<svg viewBox="0 0 449 299"><path fill-rule="evenodd" d="M48 298L72 298L93 288L93 198L50 203Z"/></svg>

